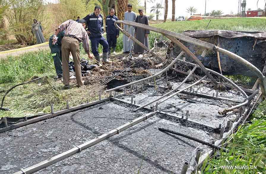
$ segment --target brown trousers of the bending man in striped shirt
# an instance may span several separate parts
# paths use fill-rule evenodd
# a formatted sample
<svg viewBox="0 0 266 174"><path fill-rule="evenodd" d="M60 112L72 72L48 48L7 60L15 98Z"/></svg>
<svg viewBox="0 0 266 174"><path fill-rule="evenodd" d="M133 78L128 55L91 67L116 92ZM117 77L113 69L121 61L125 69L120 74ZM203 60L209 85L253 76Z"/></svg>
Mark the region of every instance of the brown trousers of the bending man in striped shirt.
<svg viewBox="0 0 266 174"><path fill-rule="evenodd" d="M69 53L71 52L75 65L77 84L81 85L82 76L80 68L80 44L77 39L64 37L62 39L62 68L63 68L63 83L69 85Z"/></svg>

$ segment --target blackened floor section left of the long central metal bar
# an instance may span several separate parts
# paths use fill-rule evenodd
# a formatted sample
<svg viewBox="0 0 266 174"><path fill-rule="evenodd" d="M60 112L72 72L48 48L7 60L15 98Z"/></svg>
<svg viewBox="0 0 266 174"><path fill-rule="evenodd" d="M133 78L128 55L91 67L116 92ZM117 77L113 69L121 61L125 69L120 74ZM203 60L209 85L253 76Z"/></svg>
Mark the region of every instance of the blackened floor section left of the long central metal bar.
<svg viewBox="0 0 266 174"><path fill-rule="evenodd" d="M143 114L131 110L125 104L106 102L1 133L0 173L56 156Z"/></svg>

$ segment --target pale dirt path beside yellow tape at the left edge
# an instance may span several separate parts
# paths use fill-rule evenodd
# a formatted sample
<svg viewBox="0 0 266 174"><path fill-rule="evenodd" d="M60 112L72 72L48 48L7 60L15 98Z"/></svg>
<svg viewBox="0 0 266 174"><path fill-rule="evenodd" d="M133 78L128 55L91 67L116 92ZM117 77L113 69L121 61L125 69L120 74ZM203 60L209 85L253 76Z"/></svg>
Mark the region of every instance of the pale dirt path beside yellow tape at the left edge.
<svg viewBox="0 0 266 174"><path fill-rule="evenodd" d="M0 52L0 59L7 58L7 56L18 56L25 52L40 51L45 49L49 49L48 42L32 45L29 47L18 48L14 50L2 51Z"/></svg>

